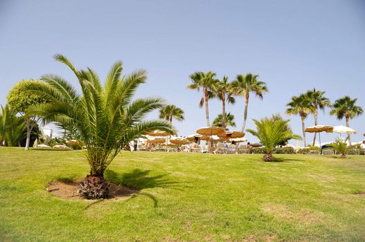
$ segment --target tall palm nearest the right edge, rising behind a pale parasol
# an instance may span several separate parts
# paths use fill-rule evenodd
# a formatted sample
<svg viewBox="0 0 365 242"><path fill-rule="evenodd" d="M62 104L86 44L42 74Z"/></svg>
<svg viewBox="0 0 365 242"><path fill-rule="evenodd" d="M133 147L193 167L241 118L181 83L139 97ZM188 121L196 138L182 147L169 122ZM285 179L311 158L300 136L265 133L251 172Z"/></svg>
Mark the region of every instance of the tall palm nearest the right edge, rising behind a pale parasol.
<svg viewBox="0 0 365 242"><path fill-rule="evenodd" d="M345 118L346 127L350 127L350 119L353 119L364 113L361 106L357 106L355 103L357 98L351 99L350 96L346 95L339 98L333 104L333 109L330 111L330 115L336 115L338 120ZM350 134L348 134L348 142L351 145Z"/></svg>

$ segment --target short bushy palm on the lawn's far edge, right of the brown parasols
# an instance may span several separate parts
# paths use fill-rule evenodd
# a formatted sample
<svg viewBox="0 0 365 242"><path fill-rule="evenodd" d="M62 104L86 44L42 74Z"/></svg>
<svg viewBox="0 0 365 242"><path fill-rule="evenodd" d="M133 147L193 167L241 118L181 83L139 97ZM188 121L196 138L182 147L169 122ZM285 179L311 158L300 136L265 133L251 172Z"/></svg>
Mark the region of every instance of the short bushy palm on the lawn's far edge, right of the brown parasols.
<svg viewBox="0 0 365 242"><path fill-rule="evenodd" d="M256 136L262 145L265 146L264 161L272 161L272 151L286 140L296 139L300 140L301 136L292 133L288 127L289 120L279 119L275 116L271 118L261 118L260 120L253 120L256 124L256 129L247 129L247 132Z"/></svg>

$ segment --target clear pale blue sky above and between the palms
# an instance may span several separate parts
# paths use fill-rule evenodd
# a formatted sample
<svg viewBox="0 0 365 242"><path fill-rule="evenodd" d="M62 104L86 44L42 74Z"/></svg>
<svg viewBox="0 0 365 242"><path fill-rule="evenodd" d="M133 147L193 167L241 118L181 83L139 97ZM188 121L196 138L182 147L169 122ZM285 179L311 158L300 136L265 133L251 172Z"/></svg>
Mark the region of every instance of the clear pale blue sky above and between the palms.
<svg viewBox="0 0 365 242"><path fill-rule="evenodd" d="M264 100L251 97L249 122L282 113L293 95L316 88L333 102L358 98L365 109L364 1L10 1L0 0L0 103L19 80L57 73L75 77L53 61L55 53L105 78L121 59L125 73L148 71L136 96L160 96L184 109L175 122L180 135L206 125L200 93L186 89L194 71L214 71L233 80L255 73L267 82ZM227 106L240 129L244 100ZM210 102L211 119L221 112ZM157 118L157 113L150 115ZM290 117L301 134L299 117ZM350 121L365 132L365 115ZM313 124L312 117L306 120ZM320 113L320 124L344 124ZM255 141L247 135L249 140ZM312 136L308 135L310 139ZM334 134L323 134L328 141Z"/></svg>

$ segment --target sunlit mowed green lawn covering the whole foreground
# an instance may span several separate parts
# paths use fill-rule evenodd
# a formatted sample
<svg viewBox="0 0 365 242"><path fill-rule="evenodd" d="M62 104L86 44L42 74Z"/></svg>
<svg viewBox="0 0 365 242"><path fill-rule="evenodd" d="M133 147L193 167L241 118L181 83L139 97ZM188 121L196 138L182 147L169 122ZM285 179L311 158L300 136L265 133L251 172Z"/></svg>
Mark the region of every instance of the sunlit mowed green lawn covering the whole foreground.
<svg viewBox="0 0 365 242"><path fill-rule="evenodd" d="M0 148L0 241L365 241L365 156L122 152L106 177L141 189L66 201L84 151Z"/></svg>

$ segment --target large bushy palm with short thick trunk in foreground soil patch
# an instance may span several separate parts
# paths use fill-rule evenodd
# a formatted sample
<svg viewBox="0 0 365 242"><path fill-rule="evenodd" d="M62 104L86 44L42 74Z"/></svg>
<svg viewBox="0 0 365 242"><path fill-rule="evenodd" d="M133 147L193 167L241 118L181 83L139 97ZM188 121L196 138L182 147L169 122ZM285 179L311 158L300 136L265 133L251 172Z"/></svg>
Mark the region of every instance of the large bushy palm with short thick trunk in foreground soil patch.
<svg viewBox="0 0 365 242"><path fill-rule="evenodd" d="M60 122L78 130L75 138L86 148L90 166L89 175L79 185L79 194L105 198L109 183L104 179L104 171L121 149L146 131L159 129L172 133L166 121L144 120L147 113L161 109L164 102L159 98L132 100L138 86L147 79L143 70L122 76L122 62L115 62L102 85L91 68L78 70L63 55L55 55L55 59L71 68L81 93L57 75L44 75L41 83L29 83L26 90L51 102L38 104L31 111L42 117L43 122Z"/></svg>

